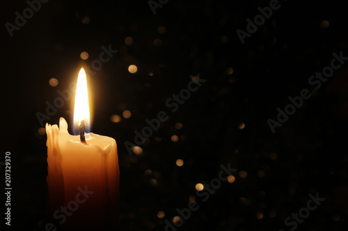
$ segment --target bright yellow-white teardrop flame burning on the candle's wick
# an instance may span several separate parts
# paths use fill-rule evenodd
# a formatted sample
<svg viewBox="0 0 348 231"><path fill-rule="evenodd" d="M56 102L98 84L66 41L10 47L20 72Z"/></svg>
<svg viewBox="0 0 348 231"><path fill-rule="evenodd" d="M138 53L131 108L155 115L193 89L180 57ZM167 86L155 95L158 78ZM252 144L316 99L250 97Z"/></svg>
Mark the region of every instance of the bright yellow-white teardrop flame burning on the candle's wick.
<svg viewBox="0 0 348 231"><path fill-rule="evenodd" d="M86 132L90 128L90 112L88 103L87 78L84 68L81 68L77 78L75 105L74 105L74 131L79 130L79 123L84 121Z"/></svg>

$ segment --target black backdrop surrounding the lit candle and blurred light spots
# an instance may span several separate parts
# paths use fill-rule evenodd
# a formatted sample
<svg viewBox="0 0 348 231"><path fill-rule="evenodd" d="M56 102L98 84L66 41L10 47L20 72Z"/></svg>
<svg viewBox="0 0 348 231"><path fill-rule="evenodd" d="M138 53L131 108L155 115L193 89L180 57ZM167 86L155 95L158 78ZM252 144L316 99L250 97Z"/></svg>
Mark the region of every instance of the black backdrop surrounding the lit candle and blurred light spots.
<svg viewBox="0 0 348 231"><path fill-rule="evenodd" d="M228 163L237 169L235 182L222 182L206 202L196 198L200 209L177 230L290 230L286 217L317 192L326 200L297 230L347 230L347 65L274 134L267 119L276 119L289 96L312 91L308 78L330 65L333 52L348 56L348 8L344 1L280 1L242 44L236 30L246 31L246 19L265 6L269 1L170 0L153 15L148 1L50 0L10 37L6 22L15 24L15 12L22 15L28 5L1 1L1 162L10 151L11 228L45 225L47 137L38 132L35 114L45 113L45 102L68 89L79 69L111 44L118 53L88 77L88 85L91 131L118 144L121 230L164 230L164 221L178 215L175 209L187 207L196 184L209 183ZM81 60L82 51L87 60ZM138 67L136 74L129 65ZM207 82L170 112L166 99L197 74ZM124 110L132 112L129 119ZM124 142L133 142L134 130L161 110L170 119L140 155L129 155ZM112 114L121 121L113 123ZM72 102L45 123L56 124L59 117L71 124ZM177 166L177 159L184 165Z"/></svg>

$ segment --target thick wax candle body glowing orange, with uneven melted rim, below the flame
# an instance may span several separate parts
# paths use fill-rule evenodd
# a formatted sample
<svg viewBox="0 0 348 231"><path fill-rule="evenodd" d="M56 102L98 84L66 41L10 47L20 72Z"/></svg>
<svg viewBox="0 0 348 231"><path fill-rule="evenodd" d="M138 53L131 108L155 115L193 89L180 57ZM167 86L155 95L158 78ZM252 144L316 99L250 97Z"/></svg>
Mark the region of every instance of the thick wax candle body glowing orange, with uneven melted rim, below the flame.
<svg viewBox="0 0 348 231"><path fill-rule="evenodd" d="M92 132L86 144L65 119L46 125L49 216L63 230L115 230L119 168L115 139Z"/></svg>

